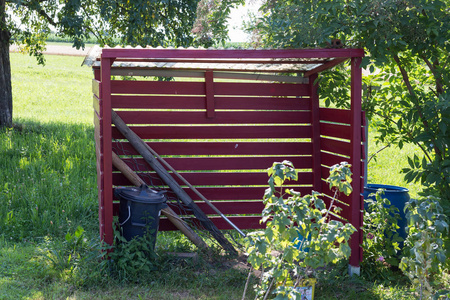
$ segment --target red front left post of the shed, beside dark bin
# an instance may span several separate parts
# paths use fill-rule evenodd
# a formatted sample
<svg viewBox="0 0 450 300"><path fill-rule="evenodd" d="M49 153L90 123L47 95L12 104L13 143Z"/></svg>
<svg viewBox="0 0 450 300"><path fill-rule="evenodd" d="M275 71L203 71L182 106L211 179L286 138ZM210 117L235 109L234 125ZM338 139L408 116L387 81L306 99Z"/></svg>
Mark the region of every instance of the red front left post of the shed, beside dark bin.
<svg viewBox="0 0 450 300"><path fill-rule="evenodd" d="M113 243L113 193L112 193L112 135L111 135L111 64L113 59L102 58L102 169L103 169L103 205L99 207L99 214L104 221L100 228L101 238L108 244Z"/></svg>

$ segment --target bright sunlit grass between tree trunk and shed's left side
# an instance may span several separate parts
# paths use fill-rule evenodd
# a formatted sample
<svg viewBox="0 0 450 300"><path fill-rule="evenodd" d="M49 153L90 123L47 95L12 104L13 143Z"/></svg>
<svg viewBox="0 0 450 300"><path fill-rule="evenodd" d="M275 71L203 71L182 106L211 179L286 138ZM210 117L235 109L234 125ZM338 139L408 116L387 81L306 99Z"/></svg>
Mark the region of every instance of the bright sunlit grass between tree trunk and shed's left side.
<svg viewBox="0 0 450 300"><path fill-rule="evenodd" d="M92 70L83 57L11 53L14 122L92 124Z"/></svg>

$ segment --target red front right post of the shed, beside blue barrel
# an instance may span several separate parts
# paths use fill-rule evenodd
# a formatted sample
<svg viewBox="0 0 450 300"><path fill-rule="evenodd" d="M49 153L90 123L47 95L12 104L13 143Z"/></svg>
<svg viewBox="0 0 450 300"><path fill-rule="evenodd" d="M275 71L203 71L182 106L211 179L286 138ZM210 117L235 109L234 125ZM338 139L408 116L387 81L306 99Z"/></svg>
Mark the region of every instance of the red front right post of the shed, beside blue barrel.
<svg viewBox="0 0 450 300"><path fill-rule="evenodd" d="M359 274L359 263L362 260L362 186L361 186L361 89L362 72L361 57L351 59L351 152L350 160L353 171L353 193L351 194L350 222L356 232L350 240L352 254L350 256L350 273Z"/></svg>

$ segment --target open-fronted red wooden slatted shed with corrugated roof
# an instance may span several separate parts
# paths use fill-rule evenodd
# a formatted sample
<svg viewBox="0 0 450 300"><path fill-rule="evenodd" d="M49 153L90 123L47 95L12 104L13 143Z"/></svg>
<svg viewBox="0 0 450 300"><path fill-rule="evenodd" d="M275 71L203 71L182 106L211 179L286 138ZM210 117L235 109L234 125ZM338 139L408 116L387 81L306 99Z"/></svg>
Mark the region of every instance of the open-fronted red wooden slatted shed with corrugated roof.
<svg viewBox="0 0 450 300"><path fill-rule="evenodd" d="M131 185L113 168L111 153L134 169L138 163L137 172L151 172L112 125L113 109L240 229L261 227L266 169L273 162L293 162L299 180L289 185L302 194L331 194L324 182L328 167L348 161L354 192L341 195L338 205L344 221L359 229L350 258L351 266L359 266L363 56L361 49L101 49L93 65L101 237L113 241L113 188ZM350 98L351 109L321 107L317 77L347 60L351 95L342 96ZM219 229L231 229L208 206L198 205ZM160 230L173 229L161 219Z"/></svg>

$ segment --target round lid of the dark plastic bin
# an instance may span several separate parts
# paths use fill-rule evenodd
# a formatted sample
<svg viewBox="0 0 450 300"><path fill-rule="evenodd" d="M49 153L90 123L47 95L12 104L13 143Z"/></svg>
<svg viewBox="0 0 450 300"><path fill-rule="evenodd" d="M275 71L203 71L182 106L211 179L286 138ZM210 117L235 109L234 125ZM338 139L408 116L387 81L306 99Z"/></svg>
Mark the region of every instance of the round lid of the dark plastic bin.
<svg viewBox="0 0 450 300"><path fill-rule="evenodd" d="M119 199L125 199L141 203L164 203L166 191L157 191L143 184L140 187L119 187L114 190Z"/></svg>

